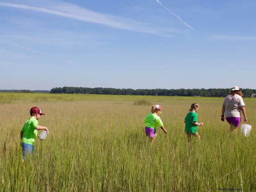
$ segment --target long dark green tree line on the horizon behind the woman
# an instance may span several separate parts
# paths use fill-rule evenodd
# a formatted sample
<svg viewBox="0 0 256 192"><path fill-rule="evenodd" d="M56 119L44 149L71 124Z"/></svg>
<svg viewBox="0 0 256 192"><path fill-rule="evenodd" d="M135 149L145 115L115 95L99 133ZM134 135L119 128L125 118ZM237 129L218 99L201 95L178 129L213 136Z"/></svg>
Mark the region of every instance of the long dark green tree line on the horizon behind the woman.
<svg viewBox="0 0 256 192"><path fill-rule="evenodd" d="M251 97L256 89L241 89L245 97ZM55 87L50 93L100 94L100 95L151 95L151 96L209 96L224 97L229 89L115 89L88 87Z"/></svg>

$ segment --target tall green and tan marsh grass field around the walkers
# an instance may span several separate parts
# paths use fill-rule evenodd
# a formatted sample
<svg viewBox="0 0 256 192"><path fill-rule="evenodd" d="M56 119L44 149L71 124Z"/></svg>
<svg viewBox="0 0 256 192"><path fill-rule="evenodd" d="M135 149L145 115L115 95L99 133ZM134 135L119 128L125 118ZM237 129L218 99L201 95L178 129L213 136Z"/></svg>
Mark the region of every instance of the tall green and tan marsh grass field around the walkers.
<svg viewBox="0 0 256 192"><path fill-rule="evenodd" d="M241 126L229 133L223 100L1 93L0 191L256 191L256 99L244 98L249 137ZM188 147L184 117L194 102L204 126ZM168 132L158 128L153 146L143 123L152 104L161 105ZM33 106L46 114L39 125L50 134L22 163L20 130Z"/></svg>

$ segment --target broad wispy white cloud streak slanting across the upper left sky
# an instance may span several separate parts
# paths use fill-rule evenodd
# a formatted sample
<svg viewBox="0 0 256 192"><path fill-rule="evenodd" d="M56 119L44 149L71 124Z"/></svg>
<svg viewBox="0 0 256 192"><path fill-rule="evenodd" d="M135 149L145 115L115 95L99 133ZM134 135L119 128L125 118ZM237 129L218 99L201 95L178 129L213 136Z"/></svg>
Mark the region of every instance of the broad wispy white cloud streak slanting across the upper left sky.
<svg viewBox="0 0 256 192"><path fill-rule="evenodd" d="M80 21L106 25L106 26L110 26L110 27L122 29L122 30L151 33L151 34L156 34L160 36L172 36L171 34L165 34L164 31L159 31L157 28L146 23L142 23L142 22L138 22L135 20L118 17L114 15L103 14L96 11L91 11L91 10L78 7L74 4L69 4L69 3L59 3L59 4L51 5L50 7L49 6L37 7L37 6L24 5L24 4L0 2L0 6L37 11L37 12L57 15L61 17L66 17L70 19L76 19Z"/></svg>

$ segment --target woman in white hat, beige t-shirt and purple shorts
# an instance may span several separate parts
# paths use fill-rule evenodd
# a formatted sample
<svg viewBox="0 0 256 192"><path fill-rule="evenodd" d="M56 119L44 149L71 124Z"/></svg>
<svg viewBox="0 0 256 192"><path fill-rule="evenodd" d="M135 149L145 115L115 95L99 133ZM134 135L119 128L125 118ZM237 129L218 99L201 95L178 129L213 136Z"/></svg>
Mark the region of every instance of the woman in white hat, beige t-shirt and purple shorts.
<svg viewBox="0 0 256 192"><path fill-rule="evenodd" d="M242 98L243 93L238 86L231 89L229 95L224 99L221 113L221 120L224 121L224 115L227 122L230 124L230 132L236 133L241 122L241 112L244 115L245 122L247 121L245 113L245 103Z"/></svg>

